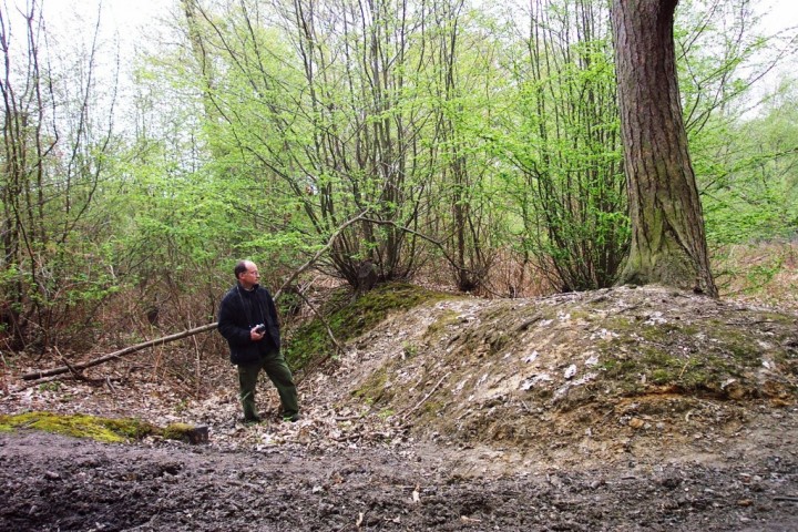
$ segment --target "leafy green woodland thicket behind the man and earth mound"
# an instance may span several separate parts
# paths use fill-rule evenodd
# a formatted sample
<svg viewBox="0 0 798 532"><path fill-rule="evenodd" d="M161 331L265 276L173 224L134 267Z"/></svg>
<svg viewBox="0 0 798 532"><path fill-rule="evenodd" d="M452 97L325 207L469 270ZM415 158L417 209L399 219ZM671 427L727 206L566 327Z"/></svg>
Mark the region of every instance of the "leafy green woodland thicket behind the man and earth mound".
<svg viewBox="0 0 798 532"><path fill-rule="evenodd" d="M798 227L798 47L754 3L677 9L724 297L795 293L778 275ZM325 250L286 317L367 259L381 282L490 297L615 283L630 227L607 2L165 6L129 48L102 6L2 4L4 367L211 323L244 257L276 290ZM185 378L224 358L217 335L183 352Z"/></svg>

